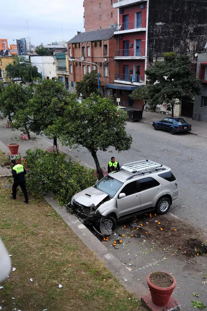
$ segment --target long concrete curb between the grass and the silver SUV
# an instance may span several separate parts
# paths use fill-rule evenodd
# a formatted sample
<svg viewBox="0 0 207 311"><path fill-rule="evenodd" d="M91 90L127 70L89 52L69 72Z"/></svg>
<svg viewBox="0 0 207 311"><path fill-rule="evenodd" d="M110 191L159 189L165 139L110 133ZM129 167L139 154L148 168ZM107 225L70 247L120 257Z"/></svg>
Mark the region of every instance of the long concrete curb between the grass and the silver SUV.
<svg viewBox="0 0 207 311"><path fill-rule="evenodd" d="M133 274L112 254L108 249L92 234L88 228L81 223L78 218L66 211L65 207L60 208L54 195L44 196L45 200L62 217L73 232L82 240L82 242L97 254L100 260L104 260L106 267L115 274L127 290L137 294L137 297L149 294L144 285L135 279Z"/></svg>

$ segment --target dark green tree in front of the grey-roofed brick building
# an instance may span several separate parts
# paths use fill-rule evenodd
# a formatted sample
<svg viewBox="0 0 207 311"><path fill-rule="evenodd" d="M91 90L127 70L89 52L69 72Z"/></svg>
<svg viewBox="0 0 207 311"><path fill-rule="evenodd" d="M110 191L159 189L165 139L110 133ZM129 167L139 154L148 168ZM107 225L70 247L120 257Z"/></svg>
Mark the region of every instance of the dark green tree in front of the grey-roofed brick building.
<svg viewBox="0 0 207 311"><path fill-rule="evenodd" d="M100 81L101 75L99 75L99 85L101 86ZM87 72L83 76L83 80L77 83L76 91L78 95L83 94L83 98L86 98L91 93L98 94L98 74L95 70Z"/></svg>

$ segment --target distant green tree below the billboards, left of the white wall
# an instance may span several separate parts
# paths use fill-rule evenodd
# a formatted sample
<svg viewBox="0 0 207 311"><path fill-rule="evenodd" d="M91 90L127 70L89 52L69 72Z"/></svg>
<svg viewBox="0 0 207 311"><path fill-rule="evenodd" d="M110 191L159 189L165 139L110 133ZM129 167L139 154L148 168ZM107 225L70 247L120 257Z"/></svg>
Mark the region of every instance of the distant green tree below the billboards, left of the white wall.
<svg viewBox="0 0 207 311"><path fill-rule="evenodd" d="M31 82L35 77L41 77L37 67L32 66L25 56L14 56L12 63L5 68L8 78L21 78L22 82Z"/></svg>

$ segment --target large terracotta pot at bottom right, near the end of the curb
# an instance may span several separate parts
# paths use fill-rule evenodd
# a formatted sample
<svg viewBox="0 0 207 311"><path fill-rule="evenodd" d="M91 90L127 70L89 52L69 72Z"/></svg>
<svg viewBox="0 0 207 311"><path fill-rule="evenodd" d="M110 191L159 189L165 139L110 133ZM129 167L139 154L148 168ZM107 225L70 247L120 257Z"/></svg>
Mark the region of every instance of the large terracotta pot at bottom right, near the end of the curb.
<svg viewBox="0 0 207 311"><path fill-rule="evenodd" d="M155 272L160 272L160 273L166 273L169 276L171 276L171 274L167 273L167 272L163 272L163 271L155 271ZM169 287L158 287L154 284L151 283L150 281L150 275L154 273L151 272L150 274L148 274L146 281L147 284L149 286L150 289L150 294L152 297L152 301L154 302L154 304L157 304L158 306L164 306L168 303L170 296L175 288L176 285L176 280L173 276L171 276L173 278L172 281L172 285Z"/></svg>

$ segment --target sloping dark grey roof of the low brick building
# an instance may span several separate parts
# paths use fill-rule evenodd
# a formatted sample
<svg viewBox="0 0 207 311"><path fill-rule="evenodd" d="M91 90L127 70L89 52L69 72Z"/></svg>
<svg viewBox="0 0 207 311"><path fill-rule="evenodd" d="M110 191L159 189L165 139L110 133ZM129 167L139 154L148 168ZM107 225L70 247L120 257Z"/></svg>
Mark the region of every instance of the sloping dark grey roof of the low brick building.
<svg viewBox="0 0 207 311"><path fill-rule="evenodd" d="M81 32L78 35L74 36L72 39L70 39L67 43L79 43L85 41L110 39L114 35L114 31L115 27Z"/></svg>

